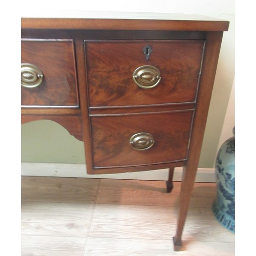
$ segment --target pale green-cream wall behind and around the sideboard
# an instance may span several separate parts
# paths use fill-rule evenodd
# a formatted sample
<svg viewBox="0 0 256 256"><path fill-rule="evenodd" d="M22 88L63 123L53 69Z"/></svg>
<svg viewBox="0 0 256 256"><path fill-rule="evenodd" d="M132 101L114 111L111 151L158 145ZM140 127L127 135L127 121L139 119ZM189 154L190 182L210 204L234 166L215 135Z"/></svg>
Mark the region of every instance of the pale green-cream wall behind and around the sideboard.
<svg viewBox="0 0 256 256"><path fill-rule="evenodd" d="M31 1L25 1L31 2ZM85 1L84 1L85 2ZM219 141L223 126L226 110L230 98L230 92L234 79L234 1L232 0L158 0L145 2L125 1L94 1L80 2L70 1L61 2L58 6L54 2L40 9L40 14L61 12L54 10L72 11L125 11L125 12L163 12L163 13L191 13L201 14L230 21L229 31L224 33L219 64L216 73L214 90L208 114L205 137L199 167L212 168L215 164L216 153L219 148ZM25 5L28 6L28 5ZM24 9L22 16L33 13L35 10ZM39 15L39 13L38 13ZM234 108L228 110L232 115ZM228 114L228 115L229 115ZM234 124L232 124L233 126ZM70 136L59 124L48 120L41 120L22 125L22 161L23 162L55 162L55 163L85 163L83 143Z"/></svg>

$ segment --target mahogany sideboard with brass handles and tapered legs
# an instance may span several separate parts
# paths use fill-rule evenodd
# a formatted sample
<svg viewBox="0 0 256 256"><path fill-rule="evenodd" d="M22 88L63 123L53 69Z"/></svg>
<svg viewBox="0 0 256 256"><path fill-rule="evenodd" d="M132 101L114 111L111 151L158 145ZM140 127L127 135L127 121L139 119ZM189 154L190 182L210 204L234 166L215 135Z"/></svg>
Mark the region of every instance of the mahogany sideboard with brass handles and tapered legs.
<svg viewBox="0 0 256 256"><path fill-rule="evenodd" d="M22 122L49 119L84 141L88 174L184 166L175 250L198 168L229 22L22 18Z"/></svg>

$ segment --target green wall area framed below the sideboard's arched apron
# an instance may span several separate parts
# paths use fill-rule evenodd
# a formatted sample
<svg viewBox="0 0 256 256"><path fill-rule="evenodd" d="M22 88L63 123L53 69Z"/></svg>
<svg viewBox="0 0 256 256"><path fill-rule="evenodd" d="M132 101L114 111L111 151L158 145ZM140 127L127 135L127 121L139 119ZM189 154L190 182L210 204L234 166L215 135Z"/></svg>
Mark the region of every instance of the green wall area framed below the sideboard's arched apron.
<svg viewBox="0 0 256 256"><path fill-rule="evenodd" d="M50 120L22 125L22 162L85 163L83 142Z"/></svg>

